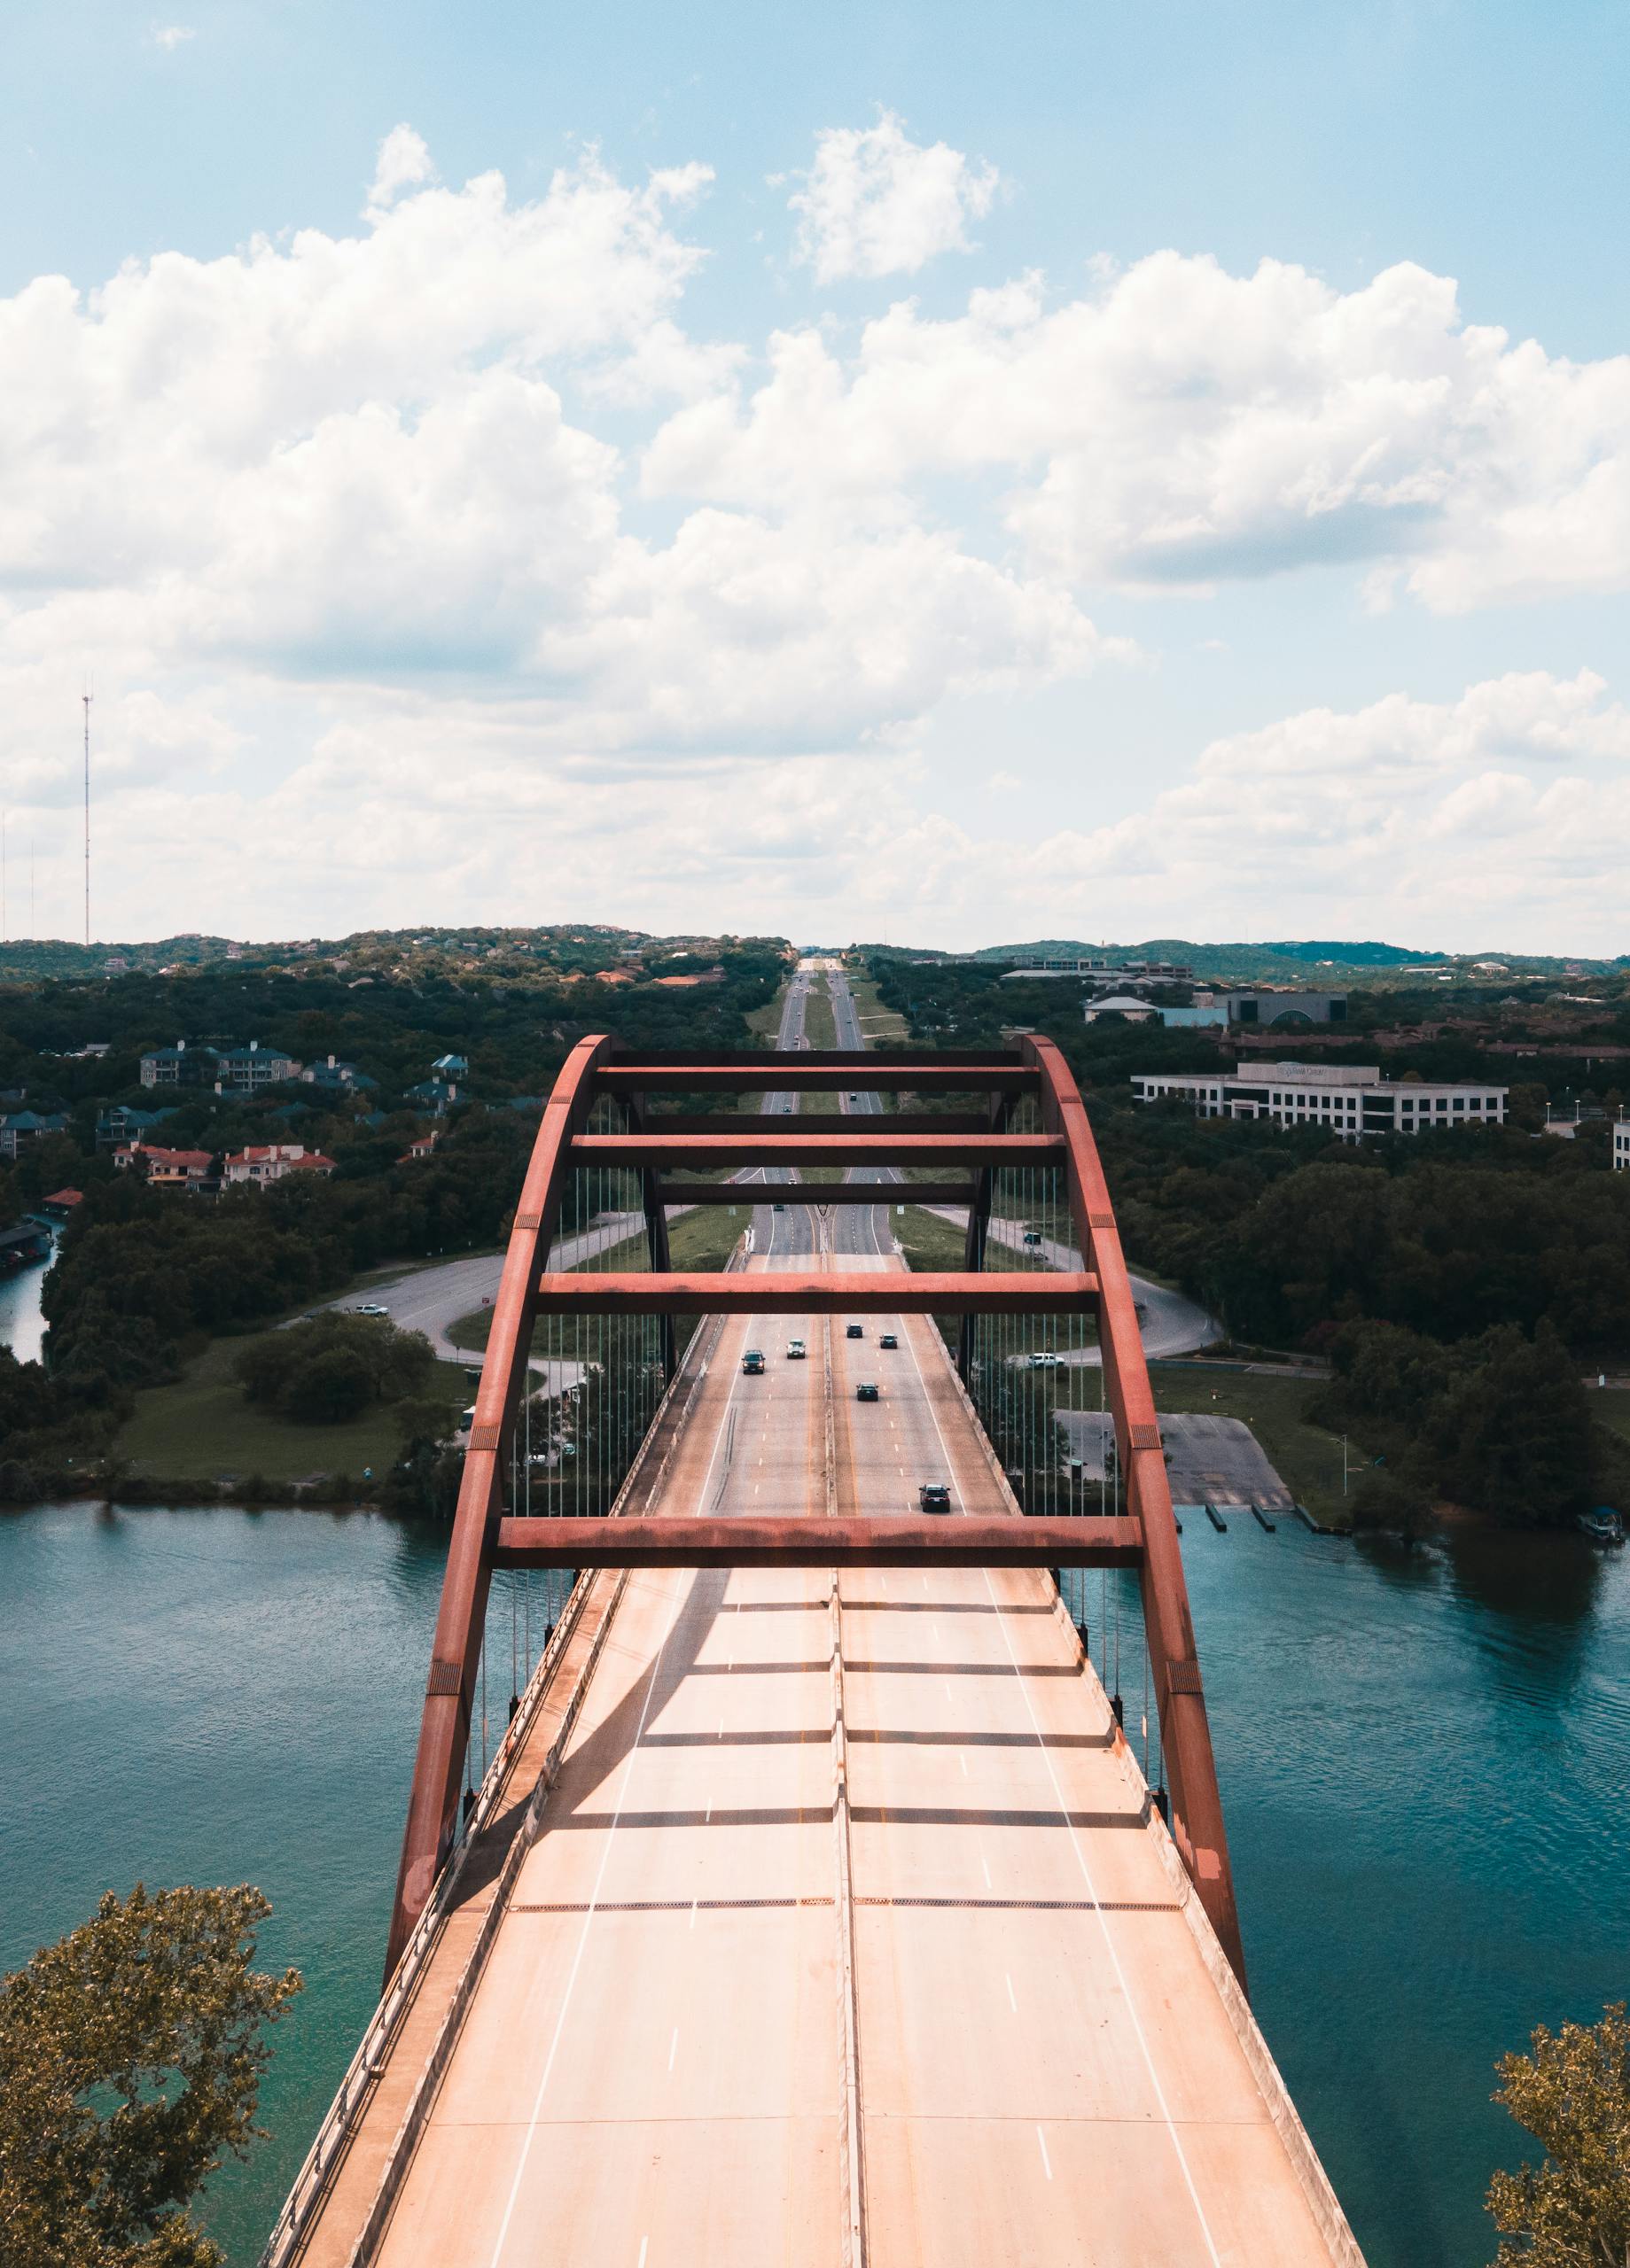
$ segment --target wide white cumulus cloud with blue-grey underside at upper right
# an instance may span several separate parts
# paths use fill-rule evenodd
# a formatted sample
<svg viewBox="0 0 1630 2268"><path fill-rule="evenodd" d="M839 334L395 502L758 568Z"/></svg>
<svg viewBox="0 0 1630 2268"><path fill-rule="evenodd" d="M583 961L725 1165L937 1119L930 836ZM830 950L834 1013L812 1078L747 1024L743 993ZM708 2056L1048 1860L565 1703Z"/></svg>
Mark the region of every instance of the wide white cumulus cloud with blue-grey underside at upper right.
<svg viewBox="0 0 1630 2268"><path fill-rule="evenodd" d="M1160 252L1065 304L1040 277L858 347L808 327L761 386L652 442L645 483L763 506L944 474L1006 481L1033 569L1203 590L1348 562L1439 612L1630 578L1630 356L1548 358L1464 324L1451 279L1337 293Z"/></svg>

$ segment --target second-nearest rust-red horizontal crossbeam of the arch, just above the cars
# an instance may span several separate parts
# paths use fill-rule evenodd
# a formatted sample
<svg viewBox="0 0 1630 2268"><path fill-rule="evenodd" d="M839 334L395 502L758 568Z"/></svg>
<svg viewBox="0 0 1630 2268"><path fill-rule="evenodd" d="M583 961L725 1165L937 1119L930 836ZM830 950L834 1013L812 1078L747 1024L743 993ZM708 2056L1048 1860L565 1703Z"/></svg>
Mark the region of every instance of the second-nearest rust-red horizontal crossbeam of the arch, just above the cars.
<svg viewBox="0 0 1630 2268"><path fill-rule="evenodd" d="M1006 1275L599 1275L538 1279L540 1315L1076 1315L1099 1279L1053 1268Z"/></svg>

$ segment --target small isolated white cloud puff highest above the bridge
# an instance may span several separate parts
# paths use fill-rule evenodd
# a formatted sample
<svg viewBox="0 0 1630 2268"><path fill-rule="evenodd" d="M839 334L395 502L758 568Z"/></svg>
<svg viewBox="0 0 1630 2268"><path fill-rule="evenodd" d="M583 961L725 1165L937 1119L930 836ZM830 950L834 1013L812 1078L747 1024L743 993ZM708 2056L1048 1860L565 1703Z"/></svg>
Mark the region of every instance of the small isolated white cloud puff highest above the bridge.
<svg viewBox="0 0 1630 2268"><path fill-rule="evenodd" d="M967 222L990 211L999 184L994 166L910 141L894 111L874 127L829 127L799 179L788 197L797 259L817 284L915 274L940 252L967 252Z"/></svg>

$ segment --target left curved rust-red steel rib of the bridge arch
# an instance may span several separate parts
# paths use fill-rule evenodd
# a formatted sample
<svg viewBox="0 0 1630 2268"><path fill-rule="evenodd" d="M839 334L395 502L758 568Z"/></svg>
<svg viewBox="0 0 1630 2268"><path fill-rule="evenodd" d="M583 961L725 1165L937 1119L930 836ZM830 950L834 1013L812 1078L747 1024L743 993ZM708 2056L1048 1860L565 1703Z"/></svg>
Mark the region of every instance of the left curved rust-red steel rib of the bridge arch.
<svg viewBox="0 0 1630 2268"><path fill-rule="evenodd" d="M493 1547L499 1515L499 1447L515 1417L520 1386L527 1374L527 1347L538 1313L538 1272L554 1241L561 1216L561 1193L572 1170L572 1136L588 1123L595 1100L595 1070L611 1041L581 1039L554 1084L543 1111L538 1139L527 1166L527 1179L515 1207L504 1275L493 1304L493 1329L474 1397L474 1420L465 1445L459 1508L447 1545L436 1637L431 1640L425 1715L420 1719L413 1792L409 1796L402 1867L390 1912L386 1982L413 1923L425 1910L436 1876L452 1848L463 1778L463 1751L470 1733L470 1706L481 1658L486 1594L493 1576Z"/></svg>

